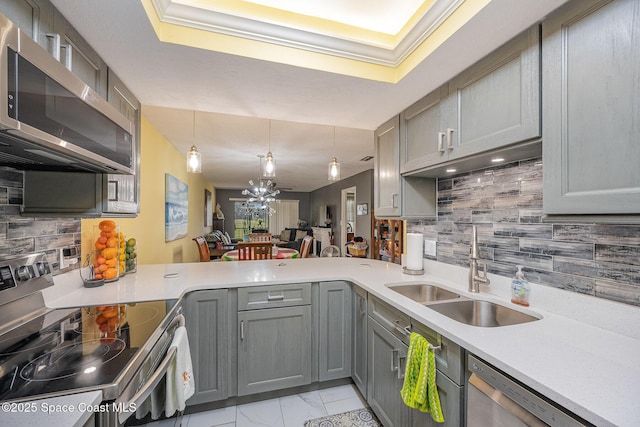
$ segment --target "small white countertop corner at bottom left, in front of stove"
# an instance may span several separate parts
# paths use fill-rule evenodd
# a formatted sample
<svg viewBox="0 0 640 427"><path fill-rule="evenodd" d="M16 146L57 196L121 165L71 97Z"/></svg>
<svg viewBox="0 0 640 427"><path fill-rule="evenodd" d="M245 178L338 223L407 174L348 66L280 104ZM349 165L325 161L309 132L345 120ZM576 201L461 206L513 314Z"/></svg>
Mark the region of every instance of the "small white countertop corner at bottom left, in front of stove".
<svg viewBox="0 0 640 427"><path fill-rule="evenodd" d="M78 393L51 399L20 403L3 403L0 425L82 427L101 410L101 391Z"/></svg>

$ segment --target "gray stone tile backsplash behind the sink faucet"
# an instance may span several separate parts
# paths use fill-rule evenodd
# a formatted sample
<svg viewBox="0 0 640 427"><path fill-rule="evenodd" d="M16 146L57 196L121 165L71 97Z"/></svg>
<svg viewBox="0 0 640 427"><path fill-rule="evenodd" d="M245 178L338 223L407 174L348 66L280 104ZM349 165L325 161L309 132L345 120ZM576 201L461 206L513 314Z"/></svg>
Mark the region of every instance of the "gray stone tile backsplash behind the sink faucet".
<svg viewBox="0 0 640 427"><path fill-rule="evenodd" d="M640 305L640 225L543 222L542 160L511 163L438 180L437 220L407 231L437 241L437 256L468 266L471 226L489 271Z"/></svg>

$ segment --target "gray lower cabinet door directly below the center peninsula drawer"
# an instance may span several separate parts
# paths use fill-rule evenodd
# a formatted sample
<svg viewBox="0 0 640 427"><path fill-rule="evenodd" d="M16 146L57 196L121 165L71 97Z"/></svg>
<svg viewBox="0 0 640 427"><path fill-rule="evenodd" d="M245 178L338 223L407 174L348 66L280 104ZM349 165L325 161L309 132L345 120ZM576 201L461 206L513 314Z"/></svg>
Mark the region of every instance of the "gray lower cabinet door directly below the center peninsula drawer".
<svg viewBox="0 0 640 427"><path fill-rule="evenodd" d="M311 383L311 306L238 312L238 395Z"/></svg>

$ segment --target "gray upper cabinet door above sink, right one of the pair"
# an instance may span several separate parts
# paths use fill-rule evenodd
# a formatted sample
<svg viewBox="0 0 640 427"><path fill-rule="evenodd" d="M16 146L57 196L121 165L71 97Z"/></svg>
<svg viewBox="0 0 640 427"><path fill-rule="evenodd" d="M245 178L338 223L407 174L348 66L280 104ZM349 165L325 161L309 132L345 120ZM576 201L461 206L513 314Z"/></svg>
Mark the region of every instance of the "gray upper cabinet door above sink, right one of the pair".
<svg viewBox="0 0 640 427"><path fill-rule="evenodd" d="M540 137L539 27L449 81L442 108L450 160Z"/></svg>

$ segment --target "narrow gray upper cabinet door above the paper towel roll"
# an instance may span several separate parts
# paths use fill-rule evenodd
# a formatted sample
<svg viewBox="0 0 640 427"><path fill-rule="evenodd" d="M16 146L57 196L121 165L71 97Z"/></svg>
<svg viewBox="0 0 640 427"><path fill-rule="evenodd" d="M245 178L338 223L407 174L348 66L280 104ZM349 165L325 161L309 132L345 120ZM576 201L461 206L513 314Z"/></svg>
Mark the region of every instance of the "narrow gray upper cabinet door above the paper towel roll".
<svg viewBox="0 0 640 427"><path fill-rule="evenodd" d="M394 116L374 132L374 214L402 214L400 193L400 118Z"/></svg>

